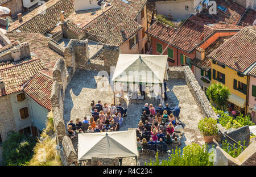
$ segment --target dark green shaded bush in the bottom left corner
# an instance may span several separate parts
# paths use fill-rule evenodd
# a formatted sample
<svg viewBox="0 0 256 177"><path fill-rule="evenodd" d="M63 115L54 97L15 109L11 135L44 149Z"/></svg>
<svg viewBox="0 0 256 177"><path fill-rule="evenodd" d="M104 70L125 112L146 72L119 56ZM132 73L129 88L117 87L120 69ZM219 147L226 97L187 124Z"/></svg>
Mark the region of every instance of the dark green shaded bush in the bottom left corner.
<svg viewBox="0 0 256 177"><path fill-rule="evenodd" d="M34 137L25 136L19 132L10 132L3 142L3 165L27 165L32 158Z"/></svg>

